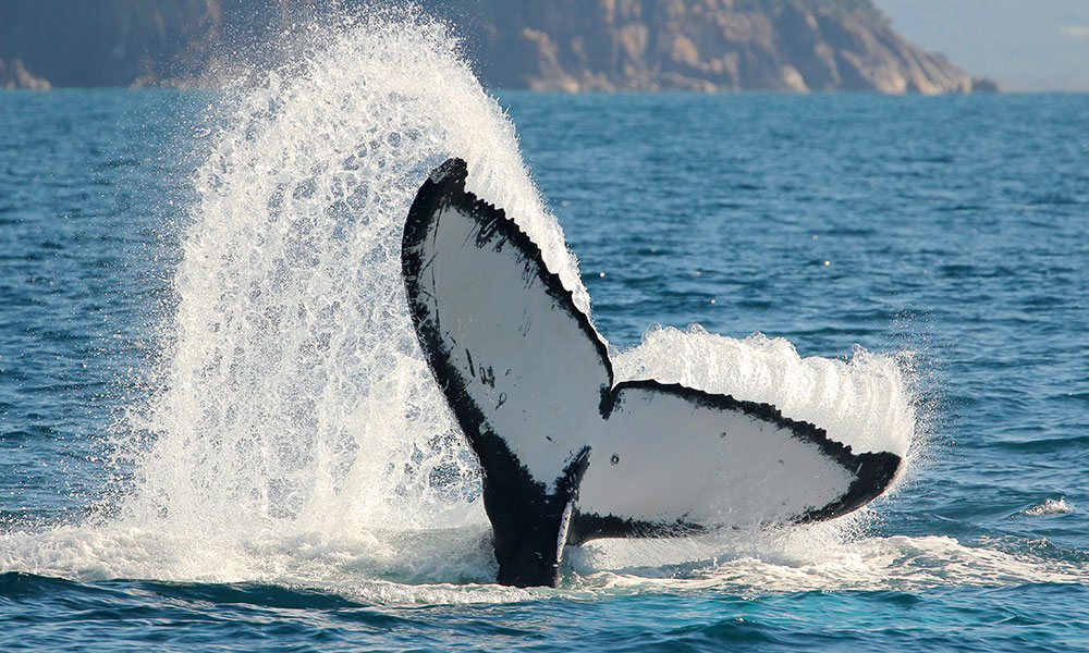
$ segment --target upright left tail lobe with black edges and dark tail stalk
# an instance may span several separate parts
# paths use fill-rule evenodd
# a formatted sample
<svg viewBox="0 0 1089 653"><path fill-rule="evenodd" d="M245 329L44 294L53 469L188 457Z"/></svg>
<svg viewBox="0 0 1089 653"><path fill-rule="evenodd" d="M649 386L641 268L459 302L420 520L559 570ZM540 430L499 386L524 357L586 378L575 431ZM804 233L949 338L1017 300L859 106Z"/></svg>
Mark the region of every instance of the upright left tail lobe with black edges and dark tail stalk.
<svg viewBox="0 0 1089 653"><path fill-rule="evenodd" d="M540 249L465 189L453 159L424 183L402 242L424 354L484 468L499 581L554 586L612 385L605 345Z"/></svg>

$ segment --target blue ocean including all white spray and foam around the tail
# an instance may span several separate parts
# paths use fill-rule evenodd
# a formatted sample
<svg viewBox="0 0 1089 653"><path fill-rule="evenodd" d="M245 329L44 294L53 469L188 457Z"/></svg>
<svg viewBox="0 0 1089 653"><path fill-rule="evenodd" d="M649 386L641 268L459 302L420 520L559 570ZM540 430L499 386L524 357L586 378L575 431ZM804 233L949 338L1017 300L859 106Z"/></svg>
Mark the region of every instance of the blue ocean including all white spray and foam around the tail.
<svg viewBox="0 0 1089 653"><path fill-rule="evenodd" d="M381 21L276 71L0 94L0 650L1089 651L1089 96L486 91ZM892 491L494 584L400 278L450 156L626 373Z"/></svg>

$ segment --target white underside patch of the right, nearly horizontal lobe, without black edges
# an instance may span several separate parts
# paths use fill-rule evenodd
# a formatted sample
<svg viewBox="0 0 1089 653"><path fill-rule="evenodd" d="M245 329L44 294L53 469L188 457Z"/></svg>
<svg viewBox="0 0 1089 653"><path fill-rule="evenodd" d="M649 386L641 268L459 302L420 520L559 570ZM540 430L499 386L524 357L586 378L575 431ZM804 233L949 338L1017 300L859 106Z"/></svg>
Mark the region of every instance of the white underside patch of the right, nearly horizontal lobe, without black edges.
<svg viewBox="0 0 1089 653"><path fill-rule="evenodd" d="M578 509L651 523L781 523L854 480L790 429L645 389L621 391L590 446Z"/></svg>

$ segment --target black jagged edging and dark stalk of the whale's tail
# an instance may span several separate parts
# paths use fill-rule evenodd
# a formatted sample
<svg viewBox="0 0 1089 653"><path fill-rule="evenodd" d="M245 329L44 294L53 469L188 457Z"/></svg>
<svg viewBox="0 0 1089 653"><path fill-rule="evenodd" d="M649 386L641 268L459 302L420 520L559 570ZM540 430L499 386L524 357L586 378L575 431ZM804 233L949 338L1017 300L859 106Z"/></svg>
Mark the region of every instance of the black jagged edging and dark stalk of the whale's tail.
<svg viewBox="0 0 1089 653"><path fill-rule="evenodd" d="M473 358L467 349L467 369L456 364L456 343L452 335L451 342L445 342L439 326L438 309L442 298L431 293L435 280L430 279L430 283L428 282L428 275L435 274L433 269L428 268L439 254L431 251L428 255L428 248L437 242L440 215L451 207L476 222L473 245L477 249L501 251L506 246L515 247L519 260L525 264L525 286L528 288L535 281L540 282L544 293L553 301L551 309L565 311L592 344L607 377L601 385L598 403L598 412L603 420L608 421L617 405L623 403L625 390L641 390L656 396L678 397L694 407L743 414L752 420L784 430L795 440L816 445L822 456L846 470L853 480L841 496L824 506L794 515L788 520L792 522L819 521L845 515L880 495L892 483L900 469L900 456L889 452L854 454L849 446L829 439L823 429L786 418L770 404L738 401L730 395L710 394L652 380L614 383L608 348L589 317L575 306L572 293L564 287L559 275L548 269L540 247L502 209L480 200L465 189L467 174L464 161L450 159L424 182L405 223L402 271L420 346L484 468L484 503L492 525L500 583L554 587L559 580L564 544L577 545L597 538L686 535L703 532L714 525L689 521L686 515L666 521L648 521L623 515L584 514L578 509L578 491L592 464L592 443L588 442L580 449L570 452L564 458L566 464L560 477L546 483L535 479L528 467L513 453L505 434L494 432L482 406L494 405L498 408L509 401L509 396L502 393L498 403L492 397L492 404L488 404L488 397L472 395L467 386L469 380L482 380L485 385L494 390L495 374L490 367L485 368L484 365L479 370L474 369ZM510 300L516 303L518 298L512 297ZM466 307L458 308L466 310ZM507 369L504 378L510 373L511 370ZM552 441L551 436L541 434ZM605 452L602 452L599 461L600 465L614 467L620 463L620 456Z"/></svg>

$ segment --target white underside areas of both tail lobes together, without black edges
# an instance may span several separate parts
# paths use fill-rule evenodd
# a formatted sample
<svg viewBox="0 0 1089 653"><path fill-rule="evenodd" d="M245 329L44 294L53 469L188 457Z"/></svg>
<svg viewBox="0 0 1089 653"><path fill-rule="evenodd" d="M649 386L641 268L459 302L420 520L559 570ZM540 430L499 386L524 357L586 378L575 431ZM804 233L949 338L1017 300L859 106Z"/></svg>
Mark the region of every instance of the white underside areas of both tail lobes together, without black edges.
<svg viewBox="0 0 1089 653"><path fill-rule="evenodd" d="M480 231L463 208L442 209L425 301L465 393L538 482L552 490L589 445L579 512L712 527L785 521L846 492L853 475L819 447L739 410L627 387L604 417L600 336L513 244L478 247Z"/></svg>

